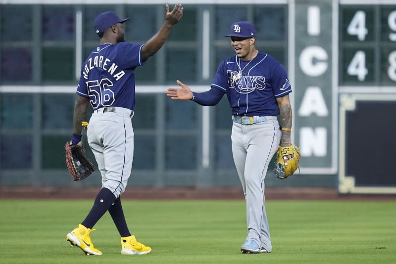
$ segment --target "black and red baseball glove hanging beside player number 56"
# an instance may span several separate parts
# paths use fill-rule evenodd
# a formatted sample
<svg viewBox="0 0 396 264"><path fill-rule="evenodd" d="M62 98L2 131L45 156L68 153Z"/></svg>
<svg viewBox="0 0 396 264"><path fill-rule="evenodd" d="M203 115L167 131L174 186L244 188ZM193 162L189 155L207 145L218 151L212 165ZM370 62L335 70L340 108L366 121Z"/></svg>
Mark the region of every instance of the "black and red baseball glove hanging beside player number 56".
<svg viewBox="0 0 396 264"><path fill-rule="evenodd" d="M85 156L84 147L66 142L65 150L67 169L73 180L83 180L95 171L94 165Z"/></svg>

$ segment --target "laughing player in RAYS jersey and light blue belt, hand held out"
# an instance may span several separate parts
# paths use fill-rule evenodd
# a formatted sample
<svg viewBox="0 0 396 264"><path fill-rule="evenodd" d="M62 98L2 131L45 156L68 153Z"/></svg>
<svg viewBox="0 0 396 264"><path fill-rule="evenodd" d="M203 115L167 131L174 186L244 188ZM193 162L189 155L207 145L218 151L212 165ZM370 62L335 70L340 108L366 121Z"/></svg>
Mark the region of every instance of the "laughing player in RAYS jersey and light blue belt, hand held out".
<svg viewBox="0 0 396 264"><path fill-rule="evenodd" d="M227 95L232 108L232 153L247 206L247 239L241 251L269 253L272 245L264 206L264 178L279 145L291 144L292 88L284 67L255 47L256 30L251 23L233 23L225 37L231 37L236 55L220 63L210 90L192 92L178 80L180 88L168 88L166 95L200 105L216 105Z"/></svg>

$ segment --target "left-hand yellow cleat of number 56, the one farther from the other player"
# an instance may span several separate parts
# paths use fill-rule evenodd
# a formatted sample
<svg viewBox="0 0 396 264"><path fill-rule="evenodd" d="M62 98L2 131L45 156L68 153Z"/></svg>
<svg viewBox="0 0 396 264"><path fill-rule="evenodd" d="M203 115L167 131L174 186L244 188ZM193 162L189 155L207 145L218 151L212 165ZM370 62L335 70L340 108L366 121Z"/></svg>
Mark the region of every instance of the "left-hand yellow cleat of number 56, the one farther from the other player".
<svg viewBox="0 0 396 264"><path fill-rule="evenodd" d="M70 242L71 246L78 246L86 255L102 255L101 251L94 248L91 241L90 233L96 229L90 229L82 224L66 235L66 240Z"/></svg>

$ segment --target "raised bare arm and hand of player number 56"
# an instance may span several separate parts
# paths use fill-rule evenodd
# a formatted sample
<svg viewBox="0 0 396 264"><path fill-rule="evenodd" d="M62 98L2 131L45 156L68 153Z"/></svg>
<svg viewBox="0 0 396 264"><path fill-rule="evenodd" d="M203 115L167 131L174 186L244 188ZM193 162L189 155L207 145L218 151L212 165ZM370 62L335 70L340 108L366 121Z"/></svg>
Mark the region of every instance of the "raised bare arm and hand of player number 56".
<svg viewBox="0 0 396 264"><path fill-rule="evenodd" d="M142 60L147 60L148 57L154 55L162 47L169 36L172 26L179 22L182 16L183 7L181 4L175 4L171 12L169 11L169 5L166 5L165 22L158 32L142 47Z"/></svg>

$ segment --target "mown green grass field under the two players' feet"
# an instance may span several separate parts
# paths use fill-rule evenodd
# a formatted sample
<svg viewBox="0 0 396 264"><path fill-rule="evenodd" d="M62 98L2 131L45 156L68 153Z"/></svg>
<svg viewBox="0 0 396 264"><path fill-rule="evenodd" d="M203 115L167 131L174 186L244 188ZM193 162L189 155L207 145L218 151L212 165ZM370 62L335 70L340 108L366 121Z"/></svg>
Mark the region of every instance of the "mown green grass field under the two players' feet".
<svg viewBox="0 0 396 264"><path fill-rule="evenodd" d="M396 201L267 201L273 252L241 254L244 201L123 201L131 232L152 247L120 255L108 214L91 238L102 256L65 240L93 201L0 200L0 263L396 263Z"/></svg>

